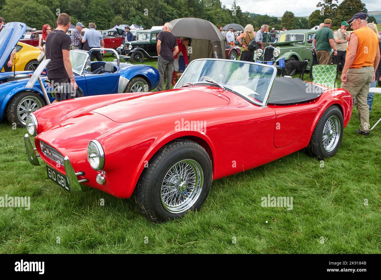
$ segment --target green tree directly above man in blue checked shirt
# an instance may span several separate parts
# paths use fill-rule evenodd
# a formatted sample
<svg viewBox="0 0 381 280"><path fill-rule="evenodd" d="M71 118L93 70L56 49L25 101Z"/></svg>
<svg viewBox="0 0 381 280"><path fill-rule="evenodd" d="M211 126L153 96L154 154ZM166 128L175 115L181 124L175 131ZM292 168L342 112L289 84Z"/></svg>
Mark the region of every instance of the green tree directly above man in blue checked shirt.
<svg viewBox="0 0 381 280"><path fill-rule="evenodd" d="M82 16L82 23L87 25L89 22L94 22L98 30L106 30L114 17L114 9L111 8L109 1L90 0L90 5Z"/></svg>

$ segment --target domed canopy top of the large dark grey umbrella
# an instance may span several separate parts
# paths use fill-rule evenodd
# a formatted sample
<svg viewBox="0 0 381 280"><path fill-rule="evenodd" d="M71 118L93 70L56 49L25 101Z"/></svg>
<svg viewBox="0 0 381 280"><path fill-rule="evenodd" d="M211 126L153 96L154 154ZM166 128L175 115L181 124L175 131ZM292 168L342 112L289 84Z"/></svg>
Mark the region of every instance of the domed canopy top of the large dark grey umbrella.
<svg viewBox="0 0 381 280"><path fill-rule="evenodd" d="M218 30L216 25L205 19L184 17L181 19L174 19L170 24L172 24L171 33L176 37L189 37L211 41L224 40L224 36Z"/></svg>

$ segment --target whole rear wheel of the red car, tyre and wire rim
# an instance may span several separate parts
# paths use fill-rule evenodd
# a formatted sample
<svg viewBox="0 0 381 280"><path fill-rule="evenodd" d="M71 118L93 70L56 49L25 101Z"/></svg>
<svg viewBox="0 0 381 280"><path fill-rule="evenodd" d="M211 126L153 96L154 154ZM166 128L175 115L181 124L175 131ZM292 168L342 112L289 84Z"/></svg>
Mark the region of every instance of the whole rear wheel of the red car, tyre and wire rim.
<svg viewBox="0 0 381 280"><path fill-rule="evenodd" d="M343 114L337 106L329 107L320 117L312 133L307 152L323 160L335 155L343 137Z"/></svg>

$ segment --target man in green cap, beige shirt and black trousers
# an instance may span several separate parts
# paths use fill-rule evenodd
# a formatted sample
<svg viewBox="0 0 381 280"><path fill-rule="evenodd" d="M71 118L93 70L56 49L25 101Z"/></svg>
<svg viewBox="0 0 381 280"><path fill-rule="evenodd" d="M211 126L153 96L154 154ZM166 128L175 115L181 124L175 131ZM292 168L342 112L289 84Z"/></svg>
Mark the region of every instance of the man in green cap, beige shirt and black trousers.
<svg viewBox="0 0 381 280"><path fill-rule="evenodd" d="M346 21L341 22L341 27L333 33L333 40L337 50L337 55L332 57L333 63L337 65L337 73L343 71L345 55L347 54L347 42L351 33L347 31L349 24Z"/></svg>

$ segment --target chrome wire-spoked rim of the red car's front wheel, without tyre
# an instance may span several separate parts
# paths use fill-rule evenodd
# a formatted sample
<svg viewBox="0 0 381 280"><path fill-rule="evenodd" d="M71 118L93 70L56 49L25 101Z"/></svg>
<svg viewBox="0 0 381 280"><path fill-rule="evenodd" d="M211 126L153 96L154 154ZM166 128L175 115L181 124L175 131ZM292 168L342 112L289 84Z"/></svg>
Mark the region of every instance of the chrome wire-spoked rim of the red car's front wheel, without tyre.
<svg viewBox="0 0 381 280"><path fill-rule="evenodd" d="M181 213L190 209L202 191L204 175L195 160L181 160L165 174L160 197L166 210Z"/></svg>

